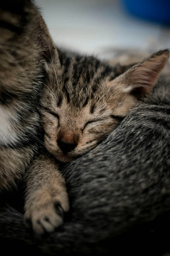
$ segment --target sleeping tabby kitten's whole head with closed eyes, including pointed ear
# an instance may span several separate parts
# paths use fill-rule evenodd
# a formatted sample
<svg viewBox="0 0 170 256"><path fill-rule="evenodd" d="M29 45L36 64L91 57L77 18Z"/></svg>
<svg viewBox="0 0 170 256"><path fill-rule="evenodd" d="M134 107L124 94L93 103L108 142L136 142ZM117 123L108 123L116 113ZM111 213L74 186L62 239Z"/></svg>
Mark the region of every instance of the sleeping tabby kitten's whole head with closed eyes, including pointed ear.
<svg viewBox="0 0 170 256"><path fill-rule="evenodd" d="M94 148L150 92L168 58L168 50L160 51L119 75L93 57L59 61L56 51L41 98L48 151L69 162Z"/></svg>

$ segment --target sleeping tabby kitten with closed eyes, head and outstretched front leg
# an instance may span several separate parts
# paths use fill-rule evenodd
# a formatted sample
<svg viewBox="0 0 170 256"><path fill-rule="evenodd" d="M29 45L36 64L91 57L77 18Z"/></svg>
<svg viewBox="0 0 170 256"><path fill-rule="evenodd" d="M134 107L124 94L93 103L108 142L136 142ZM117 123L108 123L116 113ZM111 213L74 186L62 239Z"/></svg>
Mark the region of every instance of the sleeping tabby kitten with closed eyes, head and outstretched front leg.
<svg viewBox="0 0 170 256"><path fill-rule="evenodd" d="M45 65L40 99L44 142L57 160L70 162L98 145L151 91L169 51L159 51L121 75L94 57L67 57L57 49L52 57ZM35 159L26 175L26 223L31 221L37 233L53 231L69 209L64 179L45 155Z"/></svg>

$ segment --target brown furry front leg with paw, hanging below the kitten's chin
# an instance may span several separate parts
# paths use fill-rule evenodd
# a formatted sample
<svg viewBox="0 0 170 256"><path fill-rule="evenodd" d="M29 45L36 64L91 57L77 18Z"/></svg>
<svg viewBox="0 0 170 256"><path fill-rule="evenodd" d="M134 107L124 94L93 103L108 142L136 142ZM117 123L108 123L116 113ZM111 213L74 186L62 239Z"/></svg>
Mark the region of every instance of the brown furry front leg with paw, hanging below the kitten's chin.
<svg viewBox="0 0 170 256"><path fill-rule="evenodd" d="M69 210L65 181L54 159L40 155L29 167L26 177L24 221L27 227L42 234L51 232L63 222Z"/></svg>

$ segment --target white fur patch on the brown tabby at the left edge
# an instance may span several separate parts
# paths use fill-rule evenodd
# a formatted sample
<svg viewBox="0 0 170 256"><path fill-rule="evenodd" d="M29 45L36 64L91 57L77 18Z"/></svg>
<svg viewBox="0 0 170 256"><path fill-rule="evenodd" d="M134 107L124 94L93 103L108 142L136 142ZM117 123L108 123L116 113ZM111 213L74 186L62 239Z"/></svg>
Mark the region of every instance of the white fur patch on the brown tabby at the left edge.
<svg viewBox="0 0 170 256"><path fill-rule="evenodd" d="M0 106L0 144L12 144L17 142L17 133L11 120L15 117L3 106Z"/></svg>

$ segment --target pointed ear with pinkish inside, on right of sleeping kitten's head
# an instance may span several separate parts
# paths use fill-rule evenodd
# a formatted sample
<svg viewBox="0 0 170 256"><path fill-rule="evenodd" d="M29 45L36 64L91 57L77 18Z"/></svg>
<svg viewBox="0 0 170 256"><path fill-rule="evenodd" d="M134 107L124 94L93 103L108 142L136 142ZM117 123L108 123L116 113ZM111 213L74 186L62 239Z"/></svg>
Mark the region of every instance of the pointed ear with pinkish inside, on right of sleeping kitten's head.
<svg viewBox="0 0 170 256"><path fill-rule="evenodd" d="M124 92L137 97L148 94L169 59L169 50L162 50L139 62L114 79Z"/></svg>

